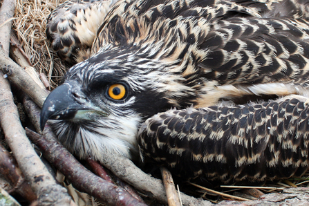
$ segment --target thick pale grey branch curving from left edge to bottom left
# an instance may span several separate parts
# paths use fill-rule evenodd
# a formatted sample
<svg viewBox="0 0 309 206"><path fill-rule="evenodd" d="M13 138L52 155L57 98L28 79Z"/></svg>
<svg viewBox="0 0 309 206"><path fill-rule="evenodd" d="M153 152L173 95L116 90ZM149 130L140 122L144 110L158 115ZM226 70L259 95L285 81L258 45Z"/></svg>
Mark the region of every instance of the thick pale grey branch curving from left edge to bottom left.
<svg viewBox="0 0 309 206"><path fill-rule="evenodd" d="M45 165L32 148L31 143L26 137L26 132L21 126L17 107L13 102L12 93L10 92L10 86L2 76L0 76L0 88L1 126L20 169L37 194L39 202L55 201L55 205L73 205L68 194L59 193L59 191L64 191L65 189L57 185L53 176L48 173ZM58 196L59 199L55 200L53 196Z"/></svg>

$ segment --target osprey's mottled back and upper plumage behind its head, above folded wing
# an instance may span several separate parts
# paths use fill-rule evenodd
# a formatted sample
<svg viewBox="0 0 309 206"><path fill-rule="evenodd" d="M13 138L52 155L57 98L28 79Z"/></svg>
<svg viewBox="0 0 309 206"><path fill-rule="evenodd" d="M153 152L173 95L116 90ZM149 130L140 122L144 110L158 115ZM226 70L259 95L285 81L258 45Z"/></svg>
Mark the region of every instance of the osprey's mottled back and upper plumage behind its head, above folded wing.
<svg viewBox="0 0 309 206"><path fill-rule="evenodd" d="M162 64L178 61L184 84L205 94L198 107L244 94L308 93L305 4L266 1L259 7L263 2L120 1L106 16L92 53L109 44L144 45ZM272 10L287 3L297 12ZM294 19L296 14L302 18Z"/></svg>

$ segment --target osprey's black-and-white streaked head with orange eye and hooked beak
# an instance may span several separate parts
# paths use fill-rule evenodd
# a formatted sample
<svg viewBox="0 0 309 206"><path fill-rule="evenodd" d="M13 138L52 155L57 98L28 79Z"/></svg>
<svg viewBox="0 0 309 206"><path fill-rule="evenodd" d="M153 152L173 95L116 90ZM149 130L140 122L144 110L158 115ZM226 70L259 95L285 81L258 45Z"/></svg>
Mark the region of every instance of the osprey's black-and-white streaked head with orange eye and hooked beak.
<svg viewBox="0 0 309 206"><path fill-rule="evenodd" d="M110 150L134 159L144 120L180 106L185 96L190 104L194 91L184 77L130 49L108 48L76 64L44 102L41 129L53 120L60 142L79 158L100 160Z"/></svg>

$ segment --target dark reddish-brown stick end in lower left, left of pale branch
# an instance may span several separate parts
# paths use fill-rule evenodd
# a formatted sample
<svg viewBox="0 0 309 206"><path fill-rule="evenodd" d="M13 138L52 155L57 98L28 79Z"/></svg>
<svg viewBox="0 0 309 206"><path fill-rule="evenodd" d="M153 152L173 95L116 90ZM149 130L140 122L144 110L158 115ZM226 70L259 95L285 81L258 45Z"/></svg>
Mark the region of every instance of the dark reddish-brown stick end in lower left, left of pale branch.
<svg viewBox="0 0 309 206"><path fill-rule="evenodd" d="M37 199L37 196L33 193L28 182L24 180L23 174L21 173L15 160L12 158L10 153L0 144L0 174L10 185L19 193L21 196L32 202Z"/></svg>

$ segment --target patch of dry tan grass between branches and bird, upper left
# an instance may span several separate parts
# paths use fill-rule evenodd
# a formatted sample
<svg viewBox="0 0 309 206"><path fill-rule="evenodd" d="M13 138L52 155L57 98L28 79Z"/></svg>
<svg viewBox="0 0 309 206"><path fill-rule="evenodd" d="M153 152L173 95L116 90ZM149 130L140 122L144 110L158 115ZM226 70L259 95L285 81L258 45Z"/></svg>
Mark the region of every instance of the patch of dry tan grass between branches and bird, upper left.
<svg viewBox="0 0 309 206"><path fill-rule="evenodd" d="M48 46L46 20L64 0L17 0L13 29L32 66L45 73L52 86L64 75L66 66Z"/></svg>

